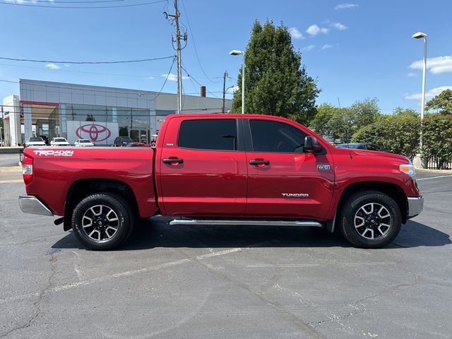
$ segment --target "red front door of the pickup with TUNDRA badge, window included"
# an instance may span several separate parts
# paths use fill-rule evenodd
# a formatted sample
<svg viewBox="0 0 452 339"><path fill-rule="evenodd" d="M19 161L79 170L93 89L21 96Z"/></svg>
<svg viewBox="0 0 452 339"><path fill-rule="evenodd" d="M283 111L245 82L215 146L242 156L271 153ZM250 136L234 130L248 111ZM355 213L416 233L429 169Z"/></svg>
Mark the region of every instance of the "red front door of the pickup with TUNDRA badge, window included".
<svg viewBox="0 0 452 339"><path fill-rule="evenodd" d="M324 218L333 195L331 155L303 153L308 135L285 121L244 119L247 216Z"/></svg>

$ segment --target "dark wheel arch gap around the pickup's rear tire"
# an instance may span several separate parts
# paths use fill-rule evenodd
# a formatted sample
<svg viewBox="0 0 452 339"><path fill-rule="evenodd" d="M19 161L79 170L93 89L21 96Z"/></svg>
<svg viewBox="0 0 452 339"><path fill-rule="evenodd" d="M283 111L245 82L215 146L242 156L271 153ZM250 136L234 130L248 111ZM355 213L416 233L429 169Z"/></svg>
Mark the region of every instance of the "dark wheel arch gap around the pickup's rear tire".
<svg viewBox="0 0 452 339"><path fill-rule="evenodd" d="M139 215L138 202L131 187L125 182L114 179L81 179L73 182L66 194L64 203L64 230L71 229L71 215L76 205L91 194L109 192L122 196L130 203L134 215Z"/></svg>

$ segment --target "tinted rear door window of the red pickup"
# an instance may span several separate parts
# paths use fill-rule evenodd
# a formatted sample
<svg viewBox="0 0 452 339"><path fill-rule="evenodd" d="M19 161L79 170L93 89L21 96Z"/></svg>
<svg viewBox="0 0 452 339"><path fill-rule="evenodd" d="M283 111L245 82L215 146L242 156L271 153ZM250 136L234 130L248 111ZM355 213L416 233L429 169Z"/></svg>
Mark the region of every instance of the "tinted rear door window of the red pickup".
<svg viewBox="0 0 452 339"><path fill-rule="evenodd" d="M237 120L184 120L177 145L197 150L237 150Z"/></svg>

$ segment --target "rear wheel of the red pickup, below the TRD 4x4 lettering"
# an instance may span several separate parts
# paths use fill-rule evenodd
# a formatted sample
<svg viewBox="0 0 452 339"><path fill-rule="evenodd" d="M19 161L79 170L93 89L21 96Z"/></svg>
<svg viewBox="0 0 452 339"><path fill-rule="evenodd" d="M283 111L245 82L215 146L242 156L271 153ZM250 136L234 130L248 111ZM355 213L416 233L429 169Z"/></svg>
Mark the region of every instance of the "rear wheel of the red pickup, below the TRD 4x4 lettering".
<svg viewBox="0 0 452 339"><path fill-rule="evenodd" d="M74 234L86 248L114 249L129 238L134 215L123 198L102 192L87 196L78 203L71 223Z"/></svg>

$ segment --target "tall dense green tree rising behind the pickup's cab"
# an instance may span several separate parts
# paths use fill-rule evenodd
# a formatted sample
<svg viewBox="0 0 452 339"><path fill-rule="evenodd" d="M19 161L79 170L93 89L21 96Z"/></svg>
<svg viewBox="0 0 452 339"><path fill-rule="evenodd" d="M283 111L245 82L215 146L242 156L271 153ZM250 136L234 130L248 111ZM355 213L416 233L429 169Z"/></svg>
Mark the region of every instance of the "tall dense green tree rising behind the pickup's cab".
<svg viewBox="0 0 452 339"><path fill-rule="evenodd" d="M273 114L307 124L316 114L320 90L302 66L284 25L254 21L245 53L245 111ZM242 110L242 70L237 79L232 112Z"/></svg>

